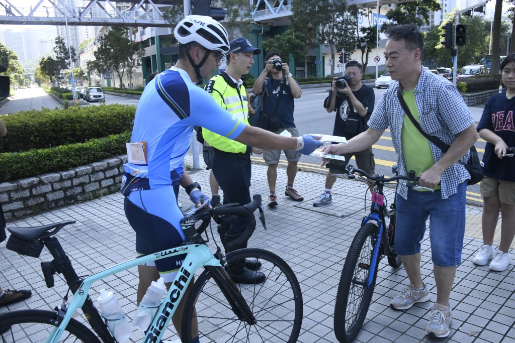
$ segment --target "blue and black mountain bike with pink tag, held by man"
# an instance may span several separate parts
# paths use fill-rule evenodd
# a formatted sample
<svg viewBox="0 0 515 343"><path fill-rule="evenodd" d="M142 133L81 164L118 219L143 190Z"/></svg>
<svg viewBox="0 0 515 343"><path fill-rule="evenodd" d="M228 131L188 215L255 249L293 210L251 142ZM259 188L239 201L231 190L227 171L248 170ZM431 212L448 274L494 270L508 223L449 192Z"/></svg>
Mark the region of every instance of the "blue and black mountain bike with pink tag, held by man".
<svg viewBox="0 0 515 343"><path fill-rule="evenodd" d="M383 193L384 185L396 182L398 186L399 180L407 180L409 183L406 186L410 188L423 188L431 192L433 190L418 186L419 177L415 176L414 171L409 171L407 176L397 175L397 165L392 168L392 172L396 174L393 177L370 175L351 165L343 169L328 164L327 168L345 171L349 178L357 176L365 181L368 178L374 184L370 214L363 218L362 225L347 252L336 294L334 333L339 342L347 343L356 338L363 326L374 294L381 259L386 256L388 264L394 268L402 263L400 256L395 253L395 201L388 204Z"/></svg>

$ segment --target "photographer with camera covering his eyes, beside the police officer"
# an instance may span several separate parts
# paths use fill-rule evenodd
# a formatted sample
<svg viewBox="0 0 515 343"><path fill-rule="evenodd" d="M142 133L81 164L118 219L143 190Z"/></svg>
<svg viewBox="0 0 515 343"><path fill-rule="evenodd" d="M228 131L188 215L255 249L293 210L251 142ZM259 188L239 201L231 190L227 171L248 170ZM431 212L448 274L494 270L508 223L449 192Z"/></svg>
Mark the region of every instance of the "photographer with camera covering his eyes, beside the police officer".
<svg viewBox="0 0 515 343"><path fill-rule="evenodd" d="M279 134L287 130L291 137L299 137L300 134L299 130L295 127L293 112L295 109L294 98L300 98L302 90L293 78L293 75L291 75L288 64L282 61L281 55L278 52L272 51L267 53L264 61L265 69L254 82L252 93L261 94L265 92L265 96L262 97L263 113L277 111L280 128L272 132ZM303 201L304 198L293 188L300 154L295 150L284 150L284 154L288 161L288 167L286 168L287 184L284 195L291 197L295 201ZM270 207L277 206L276 180L280 156L281 150L267 150L263 153L263 159L268 165L266 175L268 188L270 189L270 195L268 195L268 206Z"/></svg>

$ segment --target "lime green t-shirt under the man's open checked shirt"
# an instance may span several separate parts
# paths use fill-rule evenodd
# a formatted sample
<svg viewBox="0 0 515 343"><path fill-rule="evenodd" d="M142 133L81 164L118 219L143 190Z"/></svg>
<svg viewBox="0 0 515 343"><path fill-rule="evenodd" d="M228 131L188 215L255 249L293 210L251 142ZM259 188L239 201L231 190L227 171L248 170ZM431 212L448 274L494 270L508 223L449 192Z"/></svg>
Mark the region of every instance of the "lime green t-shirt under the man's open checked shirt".
<svg viewBox="0 0 515 343"><path fill-rule="evenodd" d="M419 113L415 104L415 89L409 92L403 91L402 97L408 106L411 115L419 121ZM401 147L404 155L406 171L414 170L415 175L419 176L422 172L431 168L435 164L433 153L429 141L415 127L407 115L404 116L401 131ZM440 186L434 188L440 189Z"/></svg>

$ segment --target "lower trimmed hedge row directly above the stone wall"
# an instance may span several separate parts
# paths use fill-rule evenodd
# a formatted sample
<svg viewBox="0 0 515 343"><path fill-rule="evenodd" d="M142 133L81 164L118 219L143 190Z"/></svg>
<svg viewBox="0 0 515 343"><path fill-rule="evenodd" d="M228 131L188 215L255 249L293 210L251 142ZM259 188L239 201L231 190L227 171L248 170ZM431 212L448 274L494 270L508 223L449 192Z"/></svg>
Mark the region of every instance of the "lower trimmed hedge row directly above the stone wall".
<svg viewBox="0 0 515 343"><path fill-rule="evenodd" d="M0 175L4 181L69 170L101 159L126 153L130 132L91 139L48 149L0 154Z"/></svg>

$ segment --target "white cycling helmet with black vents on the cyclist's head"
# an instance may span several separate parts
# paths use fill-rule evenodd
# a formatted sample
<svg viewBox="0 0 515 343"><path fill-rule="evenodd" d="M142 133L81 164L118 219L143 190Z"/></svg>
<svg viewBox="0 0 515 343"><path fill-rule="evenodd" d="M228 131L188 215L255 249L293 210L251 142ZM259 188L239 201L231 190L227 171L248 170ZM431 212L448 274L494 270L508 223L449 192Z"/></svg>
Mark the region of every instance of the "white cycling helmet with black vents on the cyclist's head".
<svg viewBox="0 0 515 343"><path fill-rule="evenodd" d="M222 53L229 51L227 30L207 15L188 15L181 20L174 30L179 44L198 43L208 50Z"/></svg>

